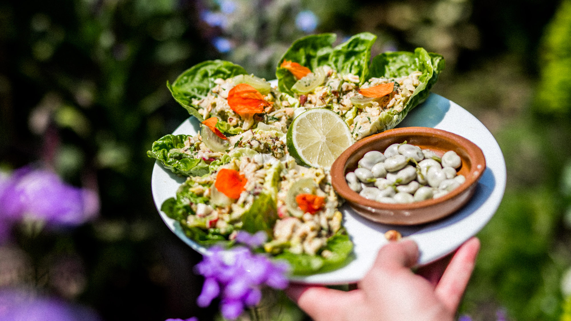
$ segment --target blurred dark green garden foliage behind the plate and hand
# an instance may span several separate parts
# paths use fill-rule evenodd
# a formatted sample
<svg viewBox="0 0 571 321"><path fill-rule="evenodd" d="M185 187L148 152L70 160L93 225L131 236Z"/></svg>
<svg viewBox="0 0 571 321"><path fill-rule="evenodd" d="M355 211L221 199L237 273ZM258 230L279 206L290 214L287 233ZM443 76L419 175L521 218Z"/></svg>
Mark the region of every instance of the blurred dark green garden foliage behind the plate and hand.
<svg viewBox="0 0 571 321"><path fill-rule="evenodd" d="M361 31L379 37L373 54L443 54L433 92L504 152L508 186L478 234L460 318L571 320L571 0L0 1L0 168L51 168L100 199L77 228L13 226L0 290L109 321L218 318L195 303L200 255L151 198L146 151L188 117L165 83L215 58L273 79L296 38ZM288 304L280 314L304 318Z"/></svg>

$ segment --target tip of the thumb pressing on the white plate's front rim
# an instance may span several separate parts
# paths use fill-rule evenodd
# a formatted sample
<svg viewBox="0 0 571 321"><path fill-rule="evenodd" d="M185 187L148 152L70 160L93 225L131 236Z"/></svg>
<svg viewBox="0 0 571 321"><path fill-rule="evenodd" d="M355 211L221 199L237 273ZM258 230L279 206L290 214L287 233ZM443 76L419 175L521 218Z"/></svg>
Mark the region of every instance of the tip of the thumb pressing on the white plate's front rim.
<svg viewBox="0 0 571 321"><path fill-rule="evenodd" d="M412 239L389 242L381 247L373 268L387 271L409 270L419 259L419 246Z"/></svg>

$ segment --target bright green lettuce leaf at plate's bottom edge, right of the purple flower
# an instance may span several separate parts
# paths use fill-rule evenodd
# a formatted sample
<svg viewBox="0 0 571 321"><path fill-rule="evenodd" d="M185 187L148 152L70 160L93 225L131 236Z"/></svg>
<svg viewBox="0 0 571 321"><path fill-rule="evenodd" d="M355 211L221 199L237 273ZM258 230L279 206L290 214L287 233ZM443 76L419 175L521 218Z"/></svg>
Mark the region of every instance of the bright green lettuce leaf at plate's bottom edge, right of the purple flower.
<svg viewBox="0 0 571 321"><path fill-rule="evenodd" d="M331 236L327 240L324 250L329 250L332 255L324 258L321 255L293 254L284 251L276 255L276 259L287 260L292 268L293 275L309 275L336 270L350 262L349 254L353 250L353 243L344 230Z"/></svg>

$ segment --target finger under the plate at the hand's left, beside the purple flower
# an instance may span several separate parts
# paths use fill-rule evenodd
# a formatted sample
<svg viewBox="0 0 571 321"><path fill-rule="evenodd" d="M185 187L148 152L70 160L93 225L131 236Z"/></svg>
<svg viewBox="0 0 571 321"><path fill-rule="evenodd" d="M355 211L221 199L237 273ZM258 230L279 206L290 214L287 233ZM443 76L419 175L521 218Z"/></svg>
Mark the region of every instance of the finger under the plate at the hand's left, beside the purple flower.
<svg viewBox="0 0 571 321"><path fill-rule="evenodd" d="M286 294L313 320L344 320L346 311L355 307L360 290L340 291L321 286L291 284Z"/></svg>

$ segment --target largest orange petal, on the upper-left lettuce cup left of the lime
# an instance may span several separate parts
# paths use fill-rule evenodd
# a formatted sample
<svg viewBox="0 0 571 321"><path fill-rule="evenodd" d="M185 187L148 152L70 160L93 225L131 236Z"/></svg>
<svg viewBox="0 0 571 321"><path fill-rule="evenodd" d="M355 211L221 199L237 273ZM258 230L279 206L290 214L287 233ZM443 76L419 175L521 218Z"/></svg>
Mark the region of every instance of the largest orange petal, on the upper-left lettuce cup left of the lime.
<svg viewBox="0 0 571 321"><path fill-rule="evenodd" d="M228 92L228 105L238 115L263 113L264 107L273 104L247 83L239 83Z"/></svg>

